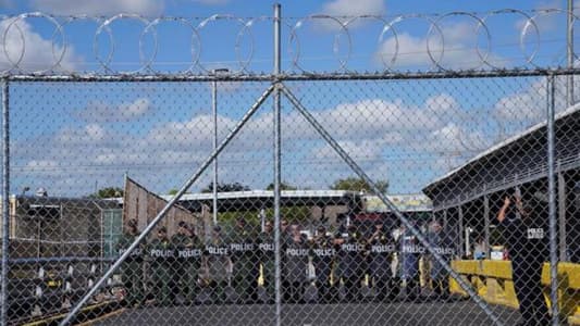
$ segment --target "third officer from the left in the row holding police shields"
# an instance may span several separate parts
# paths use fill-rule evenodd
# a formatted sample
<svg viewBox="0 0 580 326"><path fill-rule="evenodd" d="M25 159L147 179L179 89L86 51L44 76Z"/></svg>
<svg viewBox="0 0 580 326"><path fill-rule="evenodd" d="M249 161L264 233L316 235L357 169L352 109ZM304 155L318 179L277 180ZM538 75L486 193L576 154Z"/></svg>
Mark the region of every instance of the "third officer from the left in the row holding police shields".
<svg viewBox="0 0 580 326"><path fill-rule="evenodd" d="M176 250L177 280L185 302L194 303L198 293L198 276L203 246L192 225L180 222L177 234L172 238Z"/></svg>

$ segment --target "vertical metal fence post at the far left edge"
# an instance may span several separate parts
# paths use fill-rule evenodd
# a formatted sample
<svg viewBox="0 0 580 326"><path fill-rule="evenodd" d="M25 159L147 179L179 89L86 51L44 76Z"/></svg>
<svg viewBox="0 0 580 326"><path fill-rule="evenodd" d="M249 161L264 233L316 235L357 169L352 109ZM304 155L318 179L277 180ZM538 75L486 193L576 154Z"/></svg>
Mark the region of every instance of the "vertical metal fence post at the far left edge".
<svg viewBox="0 0 580 326"><path fill-rule="evenodd" d="M9 82L2 80L2 289L0 293L0 324L8 322L8 260L10 250L10 112Z"/></svg>

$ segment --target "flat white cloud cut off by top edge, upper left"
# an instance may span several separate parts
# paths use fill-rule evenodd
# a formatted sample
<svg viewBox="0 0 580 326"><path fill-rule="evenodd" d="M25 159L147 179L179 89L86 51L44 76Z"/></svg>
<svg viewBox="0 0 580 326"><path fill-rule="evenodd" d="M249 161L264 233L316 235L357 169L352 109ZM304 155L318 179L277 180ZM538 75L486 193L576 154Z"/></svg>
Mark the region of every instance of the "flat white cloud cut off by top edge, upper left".
<svg viewBox="0 0 580 326"><path fill-rule="evenodd" d="M30 7L57 15L159 15L163 12L164 0L32 0Z"/></svg>

